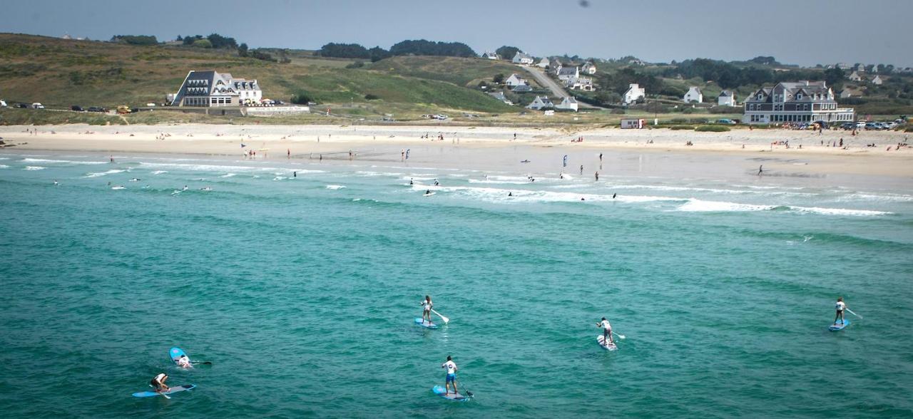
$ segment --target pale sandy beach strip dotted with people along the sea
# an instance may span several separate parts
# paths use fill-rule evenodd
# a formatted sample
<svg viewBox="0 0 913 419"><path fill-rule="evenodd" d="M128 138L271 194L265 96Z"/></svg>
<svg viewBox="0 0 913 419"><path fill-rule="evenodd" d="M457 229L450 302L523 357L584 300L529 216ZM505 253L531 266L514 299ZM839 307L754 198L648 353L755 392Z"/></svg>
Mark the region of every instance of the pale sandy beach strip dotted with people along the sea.
<svg viewBox="0 0 913 419"><path fill-rule="evenodd" d="M602 128L427 126L10 126L0 128L9 152L127 152L208 155L230 159L309 162L407 162L435 167L581 175L562 166L588 156L582 175L646 173L822 177L913 176L909 134L894 131L733 130L695 132ZM574 141L581 139L583 141ZM442 140L441 140L442 139ZM834 147L843 140L845 148ZM690 141L693 145L687 145ZM783 141L789 141L787 147ZM876 144L867 147L866 144ZM242 147L244 144L244 147ZM801 147L800 147L801 146ZM889 151L888 151L889 149ZM409 151L408 160L405 152ZM350 152L352 154L350 155ZM599 155L603 154L602 162ZM322 157L321 157L322 156ZM585 159L584 159L585 160ZM526 162L529 161L529 162ZM600 169L602 168L602 169Z"/></svg>

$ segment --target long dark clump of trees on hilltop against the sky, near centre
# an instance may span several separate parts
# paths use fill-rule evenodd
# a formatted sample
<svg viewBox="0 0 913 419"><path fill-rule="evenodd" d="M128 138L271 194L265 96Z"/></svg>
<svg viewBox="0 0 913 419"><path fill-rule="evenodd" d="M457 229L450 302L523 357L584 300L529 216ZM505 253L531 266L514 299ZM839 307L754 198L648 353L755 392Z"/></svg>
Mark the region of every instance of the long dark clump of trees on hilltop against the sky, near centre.
<svg viewBox="0 0 913 419"><path fill-rule="evenodd" d="M362 58L380 61L394 56L440 56L440 57L477 57L476 51L462 42L441 42L425 39L405 40L390 47L366 48L360 44L338 44L331 42L317 51L320 57Z"/></svg>

